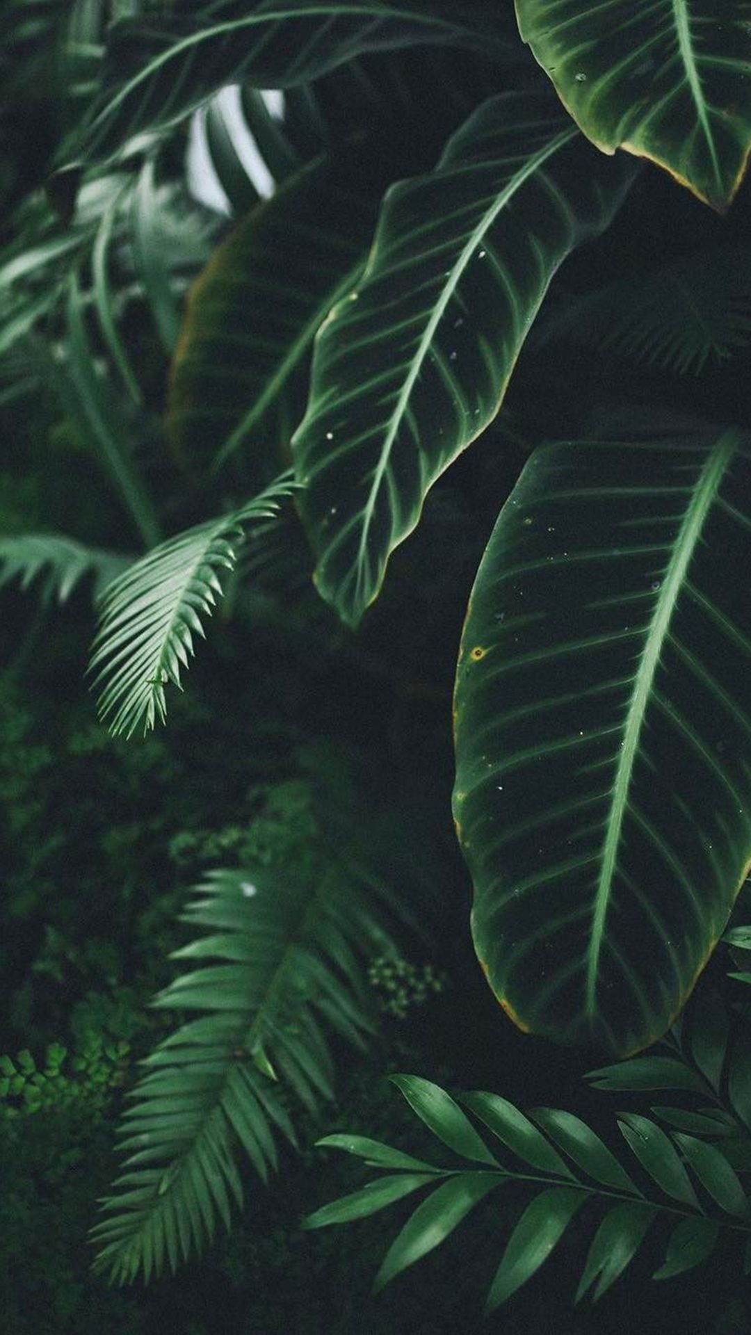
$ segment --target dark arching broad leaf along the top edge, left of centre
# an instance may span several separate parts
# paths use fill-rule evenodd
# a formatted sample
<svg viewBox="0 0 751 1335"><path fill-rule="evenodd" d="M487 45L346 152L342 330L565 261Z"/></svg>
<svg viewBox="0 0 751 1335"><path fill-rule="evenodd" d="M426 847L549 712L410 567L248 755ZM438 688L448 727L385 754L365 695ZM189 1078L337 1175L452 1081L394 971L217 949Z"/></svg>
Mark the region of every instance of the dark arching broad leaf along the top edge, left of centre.
<svg viewBox="0 0 751 1335"><path fill-rule="evenodd" d="M116 151L140 131L174 124L224 84L289 88L366 51L416 44L506 41L505 20L482 0L190 0L179 13L111 28L102 89L83 140L87 156Z"/></svg>

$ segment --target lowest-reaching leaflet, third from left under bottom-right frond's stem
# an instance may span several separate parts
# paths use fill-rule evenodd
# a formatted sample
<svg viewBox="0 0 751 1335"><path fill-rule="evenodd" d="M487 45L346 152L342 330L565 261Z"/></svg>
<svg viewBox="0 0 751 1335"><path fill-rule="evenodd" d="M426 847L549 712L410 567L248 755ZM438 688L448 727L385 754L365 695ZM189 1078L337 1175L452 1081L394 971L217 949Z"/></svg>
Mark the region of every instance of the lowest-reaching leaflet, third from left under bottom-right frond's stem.
<svg viewBox="0 0 751 1335"><path fill-rule="evenodd" d="M540 1270L585 1200L585 1192L573 1187L552 1187L535 1196L508 1240L488 1294L486 1311L505 1303Z"/></svg>

